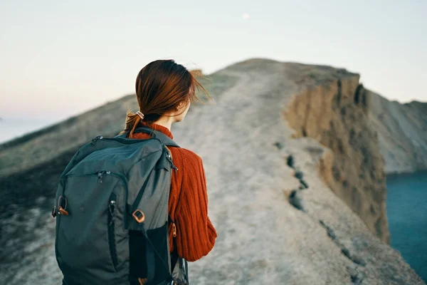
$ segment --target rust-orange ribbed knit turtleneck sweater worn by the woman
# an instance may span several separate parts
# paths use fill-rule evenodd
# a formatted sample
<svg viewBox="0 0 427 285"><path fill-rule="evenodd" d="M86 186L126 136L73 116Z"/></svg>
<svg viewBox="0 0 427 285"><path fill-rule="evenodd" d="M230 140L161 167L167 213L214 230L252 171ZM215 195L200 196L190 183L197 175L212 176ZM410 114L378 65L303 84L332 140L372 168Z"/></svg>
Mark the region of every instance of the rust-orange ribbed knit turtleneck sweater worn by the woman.
<svg viewBox="0 0 427 285"><path fill-rule="evenodd" d="M172 133L162 125L146 124L173 139ZM149 135L135 133L134 138L147 139ZM208 254L214 247L216 230L208 217L208 195L206 177L201 158L190 150L169 147L172 160L178 171L172 172L169 196L169 214L176 224L173 237L172 224L169 227L169 248L174 249L174 239L179 257L196 261Z"/></svg>

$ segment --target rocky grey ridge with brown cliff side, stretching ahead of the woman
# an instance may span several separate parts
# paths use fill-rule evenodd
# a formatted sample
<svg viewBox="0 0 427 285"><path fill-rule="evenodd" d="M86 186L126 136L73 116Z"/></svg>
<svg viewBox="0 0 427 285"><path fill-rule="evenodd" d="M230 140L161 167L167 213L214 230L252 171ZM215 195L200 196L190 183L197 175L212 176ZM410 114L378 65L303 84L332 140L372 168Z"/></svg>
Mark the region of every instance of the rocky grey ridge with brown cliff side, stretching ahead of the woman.
<svg viewBox="0 0 427 285"><path fill-rule="evenodd" d="M209 256L190 264L192 284L424 284L379 239L386 240L387 232L380 219L384 162L374 153L378 146L347 145L347 133L341 147L345 157L332 142L350 120L337 122L342 106L360 120L354 124L354 143L374 138L369 130L358 135L367 127L363 100L351 105L347 98L357 93L357 75L253 59L209 78L204 83L214 104L192 108L172 130L182 147L204 160L209 215L218 231ZM307 100L323 104L329 120L312 120L307 111L315 105L307 107ZM0 191L9 201L0 204L0 284L59 283L49 217L58 176L78 146L100 133L120 131L130 106L135 106L132 96L0 147ZM361 160L364 152L371 161ZM341 160L370 167L376 172L373 184L357 184L351 172L367 173ZM349 190L358 187L360 207L339 188L344 179ZM374 214L366 212L369 203ZM378 219L381 231L375 227Z"/></svg>

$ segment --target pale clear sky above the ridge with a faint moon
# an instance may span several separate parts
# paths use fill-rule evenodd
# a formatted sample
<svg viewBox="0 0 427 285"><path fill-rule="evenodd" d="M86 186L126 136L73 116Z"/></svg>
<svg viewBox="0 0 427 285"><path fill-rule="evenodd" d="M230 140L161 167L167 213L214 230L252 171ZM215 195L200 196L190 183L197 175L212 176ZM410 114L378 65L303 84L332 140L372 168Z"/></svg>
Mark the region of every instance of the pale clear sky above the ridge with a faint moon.
<svg viewBox="0 0 427 285"><path fill-rule="evenodd" d="M360 73L427 101L427 1L0 1L0 117L62 119L133 93L174 58L212 73L247 58Z"/></svg>

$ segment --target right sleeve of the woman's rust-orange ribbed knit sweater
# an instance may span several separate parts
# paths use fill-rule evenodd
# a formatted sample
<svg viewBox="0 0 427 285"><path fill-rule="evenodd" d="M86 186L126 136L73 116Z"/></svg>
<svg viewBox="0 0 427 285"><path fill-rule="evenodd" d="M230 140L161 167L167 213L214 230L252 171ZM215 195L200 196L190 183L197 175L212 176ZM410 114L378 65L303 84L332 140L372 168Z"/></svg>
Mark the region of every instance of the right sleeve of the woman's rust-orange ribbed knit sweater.
<svg viewBox="0 0 427 285"><path fill-rule="evenodd" d="M175 212L176 249L188 261L196 261L214 247L216 230L208 217L206 176L201 158L191 152L184 159L184 177Z"/></svg>

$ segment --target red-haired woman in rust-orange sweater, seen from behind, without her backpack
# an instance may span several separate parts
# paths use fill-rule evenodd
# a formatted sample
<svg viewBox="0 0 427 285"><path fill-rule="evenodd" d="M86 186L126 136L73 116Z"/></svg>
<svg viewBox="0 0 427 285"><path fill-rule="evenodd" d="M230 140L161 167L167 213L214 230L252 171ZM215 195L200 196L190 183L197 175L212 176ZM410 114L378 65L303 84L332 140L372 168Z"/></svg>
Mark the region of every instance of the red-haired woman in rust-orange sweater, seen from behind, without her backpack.
<svg viewBox="0 0 427 285"><path fill-rule="evenodd" d="M147 64L137 76L137 113L127 113L125 130L129 138L147 139L149 135L134 133L138 126L160 131L169 138L172 124L184 120L191 101L199 100L196 89L209 94L184 66L173 60ZM208 217L206 177L201 158L191 150L169 147L178 168L172 172L169 197L169 248L179 257L196 261L214 247L216 230Z"/></svg>

